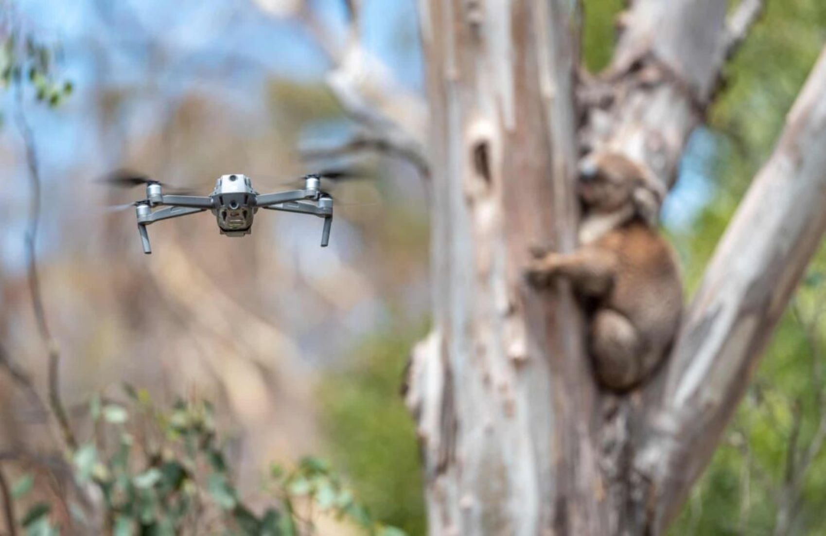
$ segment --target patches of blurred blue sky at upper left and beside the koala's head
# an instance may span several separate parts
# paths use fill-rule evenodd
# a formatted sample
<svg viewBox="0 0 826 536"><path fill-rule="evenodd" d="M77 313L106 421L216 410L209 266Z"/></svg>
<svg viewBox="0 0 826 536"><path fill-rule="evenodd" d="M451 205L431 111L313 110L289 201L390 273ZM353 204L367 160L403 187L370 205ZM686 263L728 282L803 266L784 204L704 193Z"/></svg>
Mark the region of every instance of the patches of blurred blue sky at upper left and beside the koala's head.
<svg viewBox="0 0 826 536"><path fill-rule="evenodd" d="M343 31L343 0L318 0L316 6L330 23L330 31ZM73 81L76 91L63 107L50 111L29 106L28 114L40 147L45 182L45 206L57 202L50 198L62 195L61 182L78 164L100 162L107 165L106 147L98 144L89 129L94 122L89 114L96 84L101 83L102 55L110 66L106 83L128 86L153 77L161 88L158 100L137 102L131 110L136 130L154 128L164 98L197 87L223 97L239 113L254 116L265 106L264 83L273 76L299 80L319 79L327 65L320 50L306 34L289 21L265 17L251 0L19 0L21 20L27 31L41 40L59 43L64 50L61 72ZM101 7L109 19L101 17ZM138 21L126 27L123 21ZM119 26L112 27L112 23ZM415 0L364 0L362 37L364 44L393 69L406 87L422 91L422 67L417 46ZM168 55L166 70L149 68L150 58L141 49L149 39ZM132 46L129 53L121 50ZM212 69L232 58L238 66L229 70ZM178 64L186 65L178 68ZM11 99L2 97L2 112L11 116ZM142 121L141 121L142 120ZM0 182L0 261L5 268L22 267L23 227L25 225L27 188L25 183L20 137L11 121L2 133L2 144L12 147L16 168L4 170L17 178ZM681 181L664 207L667 225L684 228L711 194L706 177L714 154L713 138L700 131L692 138ZM60 221L44 217L39 240L41 254L59 245Z"/></svg>

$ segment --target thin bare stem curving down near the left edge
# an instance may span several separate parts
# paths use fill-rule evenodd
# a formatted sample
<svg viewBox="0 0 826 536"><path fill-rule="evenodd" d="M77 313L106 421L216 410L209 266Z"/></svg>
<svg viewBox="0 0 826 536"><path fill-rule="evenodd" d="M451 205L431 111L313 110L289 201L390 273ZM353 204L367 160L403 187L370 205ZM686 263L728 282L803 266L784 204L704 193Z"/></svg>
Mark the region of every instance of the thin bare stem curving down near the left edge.
<svg viewBox="0 0 826 536"><path fill-rule="evenodd" d="M15 119L17 128L26 146L26 164L29 171L29 183L31 186L31 204L29 207L29 224L26 230L26 266L29 278L29 292L31 294L31 305L35 312L37 328L40 331L40 339L43 340L49 353L48 372L48 393L49 405L54 414L60 431L60 437L70 450L77 448L77 440L69 424L69 417L66 415L63 402L60 400L60 350L52 337L49 324L46 320L45 307L43 306L43 296L40 292L40 277L37 272L36 241L37 230L40 225L40 165L37 156L37 147L31 126L26 120L26 112L23 108L23 88L17 83L15 91L17 107Z"/></svg>

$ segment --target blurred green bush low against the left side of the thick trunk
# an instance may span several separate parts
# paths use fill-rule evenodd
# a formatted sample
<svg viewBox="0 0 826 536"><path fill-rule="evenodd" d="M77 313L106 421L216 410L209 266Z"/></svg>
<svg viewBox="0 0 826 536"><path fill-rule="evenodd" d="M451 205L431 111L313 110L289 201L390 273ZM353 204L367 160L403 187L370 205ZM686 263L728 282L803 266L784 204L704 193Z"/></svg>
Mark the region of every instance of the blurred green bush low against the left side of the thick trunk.
<svg viewBox="0 0 826 536"><path fill-rule="evenodd" d="M334 458L365 504L377 519L425 534L415 428L399 393L417 337L404 333L387 330L365 341L344 371L328 373L320 400Z"/></svg>

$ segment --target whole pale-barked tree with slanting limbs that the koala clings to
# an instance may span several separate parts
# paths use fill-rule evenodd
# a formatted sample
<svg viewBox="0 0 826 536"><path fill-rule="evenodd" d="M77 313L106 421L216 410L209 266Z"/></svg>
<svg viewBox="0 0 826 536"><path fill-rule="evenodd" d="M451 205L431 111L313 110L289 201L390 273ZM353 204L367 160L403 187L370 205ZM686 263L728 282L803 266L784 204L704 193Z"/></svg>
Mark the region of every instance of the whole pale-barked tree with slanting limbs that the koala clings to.
<svg viewBox="0 0 826 536"><path fill-rule="evenodd" d="M434 327L407 401L432 534L659 534L709 462L826 218L826 55L706 269L667 365L601 391L569 289L521 277L574 246L577 159L666 185L762 2L637 0L610 66L579 69L577 2L422 2Z"/></svg>

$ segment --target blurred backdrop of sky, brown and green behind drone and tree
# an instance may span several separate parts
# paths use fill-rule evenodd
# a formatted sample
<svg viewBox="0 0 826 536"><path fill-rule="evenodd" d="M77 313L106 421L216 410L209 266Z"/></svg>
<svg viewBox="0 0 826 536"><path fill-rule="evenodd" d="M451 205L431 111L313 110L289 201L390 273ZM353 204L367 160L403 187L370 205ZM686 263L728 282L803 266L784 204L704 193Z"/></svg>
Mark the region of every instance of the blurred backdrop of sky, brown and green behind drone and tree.
<svg viewBox="0 0 826 536"><path fill-rule="evenodd" d="M40 290L71 411L124 381L162 401L208 398L241 490L255 493L268 462L318 453L378 519L424 534L415 434L398 393L428 323L426 178L380 150L340 151L365 121L334 91L344 80L425 139L417 3L363 0L352 31L344 0L0 2L3 27L52 50L51 71L70 83L53 107L28 86L0 94L8 355L44 384L48 349L27 275L33 155ZM584 59L596 72L624 2L583 4ZM729 64L664 211L686 292L824 41L824 2L768 2ZM244 173L270 192L330 167L360 178L330 185L326 249L316 218L259 213L253 235L229 240L207 213L152 225L145 256L131 207L112 208L143 188L99 182L131 168L206 194L221 174ZM672 534L826 534L824 269L819 254ZM0 451L40 448L42 419L25 406L0 374Z"/></svg>

